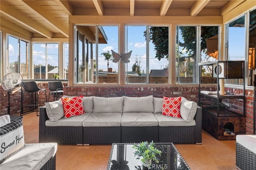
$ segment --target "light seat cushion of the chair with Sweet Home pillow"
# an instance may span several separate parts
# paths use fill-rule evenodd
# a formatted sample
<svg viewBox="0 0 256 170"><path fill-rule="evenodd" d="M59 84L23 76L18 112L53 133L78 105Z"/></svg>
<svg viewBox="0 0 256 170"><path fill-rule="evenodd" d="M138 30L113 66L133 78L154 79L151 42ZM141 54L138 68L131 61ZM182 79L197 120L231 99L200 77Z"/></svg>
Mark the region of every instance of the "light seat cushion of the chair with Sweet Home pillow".
<svg viewBox="0 0 256 170"><path fill-rule="evenodd" d="M1 170L39 170L57 151L57 143L25 144L25 148L1 164Z"/></svg>

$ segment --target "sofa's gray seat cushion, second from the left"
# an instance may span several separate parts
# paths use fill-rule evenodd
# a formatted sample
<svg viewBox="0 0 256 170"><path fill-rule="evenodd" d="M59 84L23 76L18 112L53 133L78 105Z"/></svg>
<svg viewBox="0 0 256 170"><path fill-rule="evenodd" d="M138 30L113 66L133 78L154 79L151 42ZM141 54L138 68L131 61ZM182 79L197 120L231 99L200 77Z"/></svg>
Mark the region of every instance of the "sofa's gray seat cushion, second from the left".
<svg viewBox="0 0 256 170"><path fill-rule="evenodd" d="M119 127L121 125L122 113L92 113L86 118L83 127Z"/></svg>

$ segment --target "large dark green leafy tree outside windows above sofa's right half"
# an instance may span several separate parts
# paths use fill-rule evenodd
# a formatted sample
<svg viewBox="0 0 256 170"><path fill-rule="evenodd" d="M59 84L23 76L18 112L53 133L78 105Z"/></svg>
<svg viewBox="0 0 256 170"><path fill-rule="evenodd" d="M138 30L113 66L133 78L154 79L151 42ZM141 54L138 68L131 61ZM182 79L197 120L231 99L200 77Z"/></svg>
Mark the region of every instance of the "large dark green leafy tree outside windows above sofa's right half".
<svg viewBox="0 0 256 170"><path fill-rule="evenodd" d="M184 42L179 42L179 45L183 47L182 51L186 51L188 56L177 55L176 57L180 57L179 61L185 61L186 58L192 59L194 62L188 63L187 73L191 73L193 75L193 82L196 82L196 38L197 38L197 30L195 26L181 26L180 34ZM179 34L179 32L177 32ZM207 53L206 51L206 39L218 34L218 26L202 26L201 27L201 38L200 38L200 53ZM146 37L146 32L144 32L144 36ZM177 35L178 37L178 35ZM154 49L156 50L156 58L160 61L162 58L169 57L168 55L168 27L150 27L150 40L155 45ZM178 41L178 40L177 40ZM178 49L178 48L177 48ZM179 52L180 54L180 52Z"/></svg>

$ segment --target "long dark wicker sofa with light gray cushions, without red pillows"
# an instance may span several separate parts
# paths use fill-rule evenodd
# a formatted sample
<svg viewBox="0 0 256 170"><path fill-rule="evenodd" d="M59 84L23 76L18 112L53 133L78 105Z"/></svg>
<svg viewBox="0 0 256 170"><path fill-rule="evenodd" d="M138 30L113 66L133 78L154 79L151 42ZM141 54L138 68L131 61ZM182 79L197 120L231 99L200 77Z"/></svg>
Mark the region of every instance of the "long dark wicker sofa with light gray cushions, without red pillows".
<svg viewBox="0 0 256 170"><path fill-rule="evenodd" d="M64 96L66 97L66 96ZM163 98L83 97L85 114L63 118L61 99L40 107L39 142L112 144L202 143L202 108L184 97L181 119L162 115Z"/></svg>

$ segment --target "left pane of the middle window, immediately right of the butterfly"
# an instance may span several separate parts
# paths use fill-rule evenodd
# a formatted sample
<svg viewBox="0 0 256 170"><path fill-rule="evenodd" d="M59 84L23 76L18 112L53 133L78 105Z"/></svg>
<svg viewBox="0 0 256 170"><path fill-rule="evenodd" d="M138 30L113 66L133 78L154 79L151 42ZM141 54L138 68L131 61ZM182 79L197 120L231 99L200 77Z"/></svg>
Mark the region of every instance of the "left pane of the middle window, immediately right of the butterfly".
<svg viewBox="0 0 256 170"><path fill-rule="evenodd" d="M126 63L126 83L146 83L146 26L126 26L126 47L122 53L132 51Z"/></svg>

